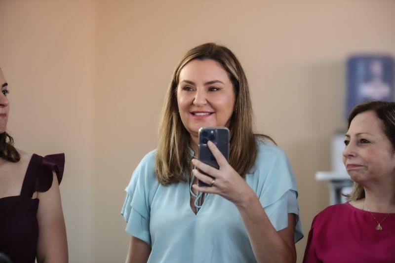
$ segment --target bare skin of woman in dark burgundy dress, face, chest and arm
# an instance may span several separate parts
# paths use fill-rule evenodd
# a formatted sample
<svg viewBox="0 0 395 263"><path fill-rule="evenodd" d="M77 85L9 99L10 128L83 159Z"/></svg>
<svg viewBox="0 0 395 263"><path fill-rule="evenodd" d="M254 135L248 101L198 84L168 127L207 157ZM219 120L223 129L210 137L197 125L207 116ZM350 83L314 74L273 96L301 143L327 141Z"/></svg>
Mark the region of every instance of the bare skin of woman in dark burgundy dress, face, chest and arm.
<svg viewBox="0 0 395 263"><path fill-rule="evenodd" d="M0 84L5 83L0 70ZM2 87L2 90L7 87ZM8 98L0 93L0 132L6 130L9 112ZM1 116L6 113L6 116ZM0 157L0 198L19 195L32 154L18 150L20 161L14 163ZM39 225L39 239L37 245L37 262L68 262L68 248L66 227L60 200L59 185L53 173L53 183L46 192L35 192L32 198L39 198L37 220Z"/></svg>

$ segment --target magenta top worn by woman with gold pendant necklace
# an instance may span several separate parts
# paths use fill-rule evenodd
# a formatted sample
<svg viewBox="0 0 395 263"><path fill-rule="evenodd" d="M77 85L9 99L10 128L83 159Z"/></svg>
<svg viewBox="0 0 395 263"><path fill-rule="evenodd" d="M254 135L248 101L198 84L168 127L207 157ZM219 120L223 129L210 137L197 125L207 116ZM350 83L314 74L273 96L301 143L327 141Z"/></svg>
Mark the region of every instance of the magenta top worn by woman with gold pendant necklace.
<svg viewBox="0 0 395 263"><path fill-rule="evenodd" d="M378 222L387 214L373 213ZM395 214L380 224L349 203L332 205L313 220L303 263L394 263Z"/></svg>

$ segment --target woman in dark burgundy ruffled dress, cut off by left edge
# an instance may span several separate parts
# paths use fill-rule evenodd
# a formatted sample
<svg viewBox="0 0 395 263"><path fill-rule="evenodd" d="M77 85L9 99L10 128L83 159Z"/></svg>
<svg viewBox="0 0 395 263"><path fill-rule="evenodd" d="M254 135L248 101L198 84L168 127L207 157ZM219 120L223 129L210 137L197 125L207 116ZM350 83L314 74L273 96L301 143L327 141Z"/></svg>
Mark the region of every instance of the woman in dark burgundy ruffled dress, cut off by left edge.
<svg viewBox="0 0 395 263"><path fill-rule="evenodd" d="M15 149L7 134L8 83L0 69L0 254L13 263L68 262L59 184L64 154ZM5 257L4 257L5 258Z"/></svg>

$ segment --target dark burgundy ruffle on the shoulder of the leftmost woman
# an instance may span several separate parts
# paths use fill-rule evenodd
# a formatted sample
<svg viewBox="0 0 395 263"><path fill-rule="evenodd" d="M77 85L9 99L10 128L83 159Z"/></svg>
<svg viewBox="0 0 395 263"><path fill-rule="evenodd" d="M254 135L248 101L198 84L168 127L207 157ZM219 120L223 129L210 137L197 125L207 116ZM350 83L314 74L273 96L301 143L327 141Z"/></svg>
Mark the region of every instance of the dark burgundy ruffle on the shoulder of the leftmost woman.
<svg viewBox="0 0 395 263"><path fill-rule="evenodd" d="M41 156L40 156L41 157ZM63 171L65 168L65 154L57 153L41 157L41 163L38 167L35 191L45 192L52 186L53 174L55 171L58 179L58 184L63 178Z"/></svg>

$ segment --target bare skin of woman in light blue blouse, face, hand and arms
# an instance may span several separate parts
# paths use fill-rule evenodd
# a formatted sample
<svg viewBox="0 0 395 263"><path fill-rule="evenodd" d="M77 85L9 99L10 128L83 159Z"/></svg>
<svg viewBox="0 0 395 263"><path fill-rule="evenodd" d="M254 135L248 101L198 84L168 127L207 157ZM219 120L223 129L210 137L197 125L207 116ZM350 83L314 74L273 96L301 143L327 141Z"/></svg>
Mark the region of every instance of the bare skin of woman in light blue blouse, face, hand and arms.
<svg viewBox="0 0 395 263"><path fill-rule="evenodd" d="M210 59L190 61L181 70L179 81L177 102L181 120L191 135L191 147L197 152L200 127L229 126L236 100L233 85L227 72ZM193 113L211 114L196 117ZM236 205L259 263L296 262L295 216L288 214L288 227L276 231L255 192L213 143L209 142L208 147L220 166L219 170L197 159L193 159L192 163L197 169L214 177L215 184L207 188L194 184L193 190L219 194ZM197 169L193 170L196 179L210 185L213 179L199 173ZM191 207L194 209L194 206ZM151 248L144 241L132 236L126 263L147 262L150 252Z"/></svg>

